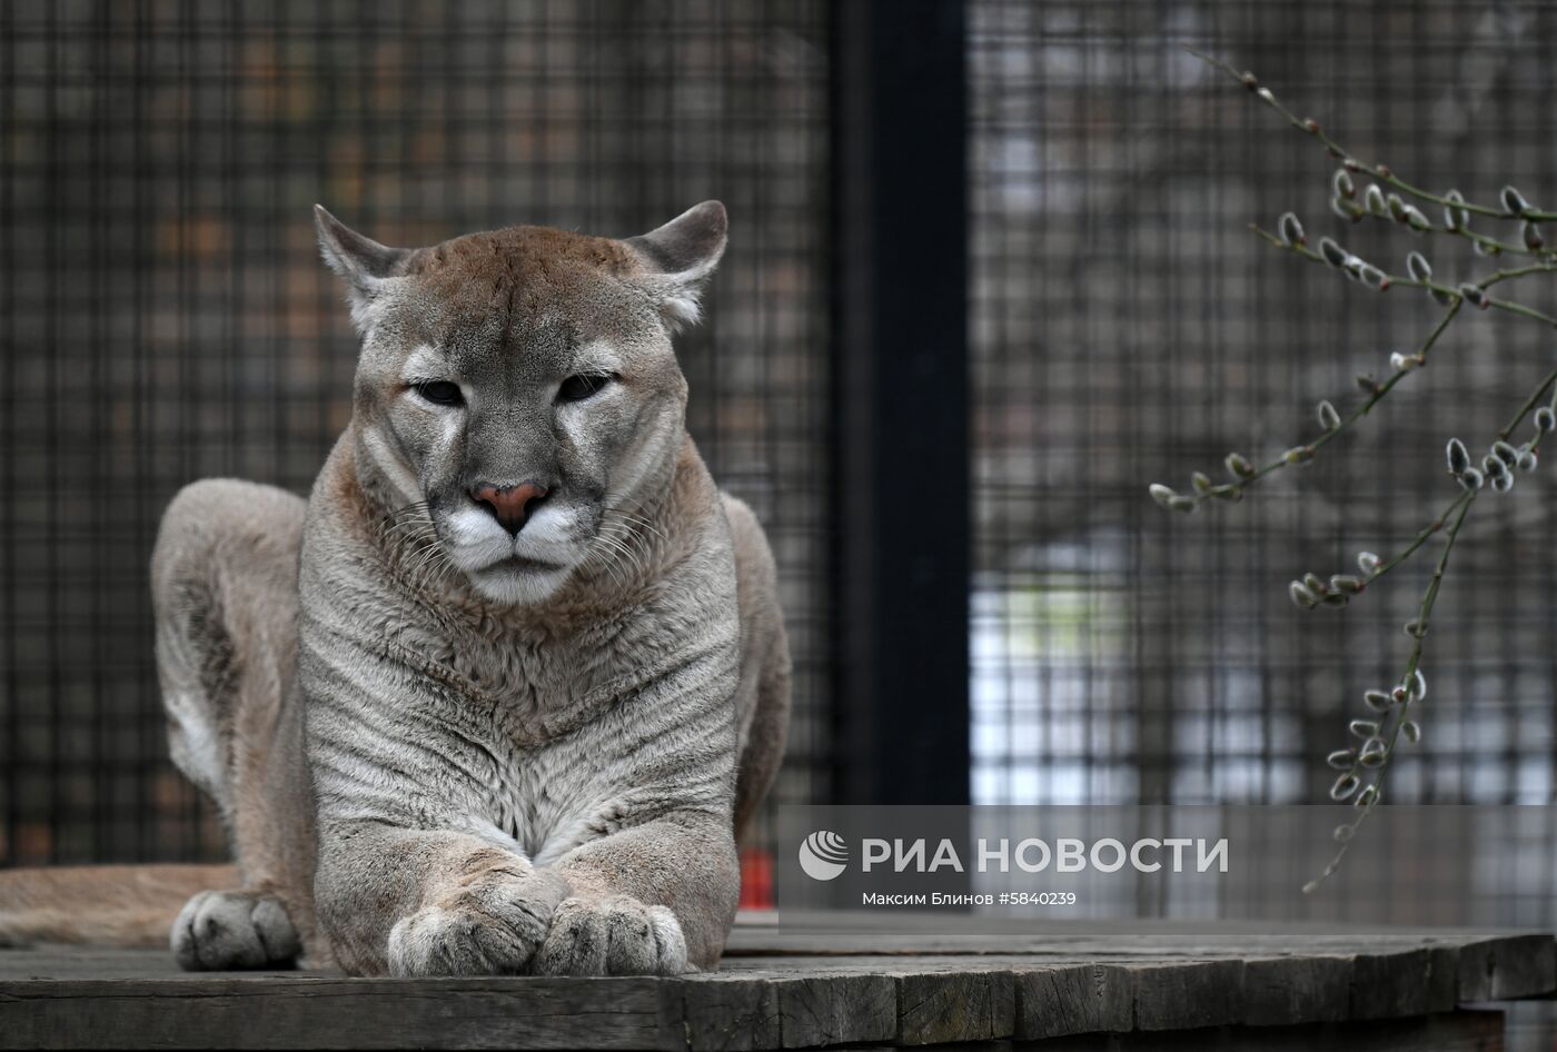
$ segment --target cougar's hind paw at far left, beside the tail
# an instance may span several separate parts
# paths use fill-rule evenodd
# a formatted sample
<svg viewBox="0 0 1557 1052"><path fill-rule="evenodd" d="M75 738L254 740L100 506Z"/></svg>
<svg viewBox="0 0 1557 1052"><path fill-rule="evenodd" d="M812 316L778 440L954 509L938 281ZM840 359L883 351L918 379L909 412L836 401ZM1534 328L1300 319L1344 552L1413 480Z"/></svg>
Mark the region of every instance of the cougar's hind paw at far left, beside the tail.
<svg viewBox="0 0 1557 1052"><path fill-rule="evenodd" d="M185 971L288 968L302 943L286 907L258 892L201 892L173 921L173 956Z"/></svg>

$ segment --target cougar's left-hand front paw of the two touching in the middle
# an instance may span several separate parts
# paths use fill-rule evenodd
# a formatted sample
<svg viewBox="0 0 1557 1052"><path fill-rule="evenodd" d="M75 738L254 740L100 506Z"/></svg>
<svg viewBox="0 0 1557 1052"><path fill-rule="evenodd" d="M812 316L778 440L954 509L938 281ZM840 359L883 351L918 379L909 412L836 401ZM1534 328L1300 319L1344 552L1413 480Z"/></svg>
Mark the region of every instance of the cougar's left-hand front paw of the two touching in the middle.
<svg viewBox="0 0 1557 1052"><path fill-rule="evenodd" d="M551 926L561 885L487 879L411 913L389 931L395 976L494 976L523 971Z"/></svg>

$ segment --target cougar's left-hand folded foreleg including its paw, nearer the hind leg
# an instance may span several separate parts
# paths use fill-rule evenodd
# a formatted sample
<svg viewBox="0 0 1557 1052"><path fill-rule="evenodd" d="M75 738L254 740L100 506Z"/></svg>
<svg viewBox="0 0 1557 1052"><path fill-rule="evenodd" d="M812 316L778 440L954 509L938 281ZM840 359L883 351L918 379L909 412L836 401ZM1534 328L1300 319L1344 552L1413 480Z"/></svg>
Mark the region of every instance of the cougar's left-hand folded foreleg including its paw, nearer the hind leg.
<svg viewBox="0 0 1557 1052"><path fill-rule="evenodd" d="M462 833L321 826L319 924L360 976L490 976L528 968L565 881Z"/></svg>

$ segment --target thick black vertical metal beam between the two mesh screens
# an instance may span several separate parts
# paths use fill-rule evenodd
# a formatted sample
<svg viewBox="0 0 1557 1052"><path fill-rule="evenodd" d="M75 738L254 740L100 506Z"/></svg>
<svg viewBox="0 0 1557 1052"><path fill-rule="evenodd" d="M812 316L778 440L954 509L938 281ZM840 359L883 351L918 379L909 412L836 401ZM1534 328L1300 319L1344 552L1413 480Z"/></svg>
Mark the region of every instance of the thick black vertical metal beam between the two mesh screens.
<svg viewBox="0 0 1557 1052"><path fill-rule="evenodd" d="M965 803L965 16L833 12L838 798Z"/></svg>

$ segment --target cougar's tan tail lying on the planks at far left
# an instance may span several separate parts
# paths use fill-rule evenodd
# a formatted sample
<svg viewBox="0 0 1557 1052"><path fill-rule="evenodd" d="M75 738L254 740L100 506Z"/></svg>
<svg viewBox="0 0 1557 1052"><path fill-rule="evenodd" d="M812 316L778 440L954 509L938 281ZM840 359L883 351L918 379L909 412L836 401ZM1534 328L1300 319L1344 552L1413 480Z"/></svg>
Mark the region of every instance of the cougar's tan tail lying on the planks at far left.
<svg viewBox="0 0 1557 1052"><path fill-rule="evenodd" d="M167 946L192 895L237 885L232 865L0 870L0 946Z"/></svg>

